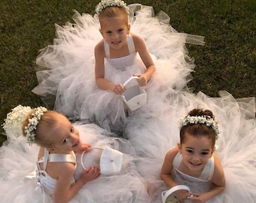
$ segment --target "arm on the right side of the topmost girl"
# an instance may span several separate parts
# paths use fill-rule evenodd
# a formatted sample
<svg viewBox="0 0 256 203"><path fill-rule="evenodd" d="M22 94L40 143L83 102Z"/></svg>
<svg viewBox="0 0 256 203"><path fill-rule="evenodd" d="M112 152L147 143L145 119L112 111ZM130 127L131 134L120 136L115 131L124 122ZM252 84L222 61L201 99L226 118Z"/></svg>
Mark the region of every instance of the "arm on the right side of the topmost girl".
<svg viewBox="0 0 256 203"><path fill-rule="evenodd" d="M142 62L144 63L147 70L144 74L140 75L140 78L138 79L138 83L140 86L145 86L148 81L151 79L152 75L154 74L154 71L156 71L156 68L154 66L154 62L151 59L150 54L148 53L148 49L146 47L145 41L139 37L138 35L131 34L133 36L134 45L136 48L136 51L139 53L139 56L142 59Z"/></svg>

